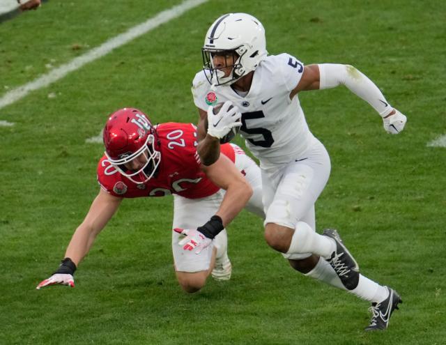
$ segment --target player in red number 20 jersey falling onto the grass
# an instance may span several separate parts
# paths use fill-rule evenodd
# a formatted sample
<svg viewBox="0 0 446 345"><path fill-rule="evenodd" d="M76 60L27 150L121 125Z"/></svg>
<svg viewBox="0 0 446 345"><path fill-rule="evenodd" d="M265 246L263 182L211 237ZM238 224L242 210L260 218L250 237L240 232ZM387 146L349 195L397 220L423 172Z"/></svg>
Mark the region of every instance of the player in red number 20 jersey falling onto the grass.
<svg viewBox="0 0 446 345"><path fill-rule="evenodd" d="M143 112L132 108L109 116L103 139L99 194L72 236L59 269L37 289L75 285L79 262L124 198L167 194L174 195L172 250L180 286L187 292L199 291L211 272L215 279L229 279L224 227L245 206L263 216L261 176L254 161L238 146L222 144L219 160L205 166L197 154L197 128L192 123L155 127Z"/></svg>

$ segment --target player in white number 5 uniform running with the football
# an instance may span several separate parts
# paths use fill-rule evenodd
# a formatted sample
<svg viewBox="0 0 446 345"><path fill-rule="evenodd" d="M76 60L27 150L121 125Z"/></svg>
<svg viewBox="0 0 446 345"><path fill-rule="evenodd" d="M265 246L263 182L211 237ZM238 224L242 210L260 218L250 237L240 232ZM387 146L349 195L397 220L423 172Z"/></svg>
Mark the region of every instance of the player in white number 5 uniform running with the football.
<svg viewBox="0 0 446 345"><path fill-rule="evenodd" d="M240 134L260 161L268 245L295 270L371 302L366 330L387 328L401 302L398 293L360 274L336 230L315 231L314 204L328 181L330 158L309 131L298 93L345 85L374 107L391 134L403 130L406 116L353 66L304 66L289 54L268 56L265 31L252 15L229 13L215 20L202 54L204 68L192 82L201 162L215 162L220 139L240 125L226 115L227 106L214 114L214 105L230 101L242 113Z"/></svg>

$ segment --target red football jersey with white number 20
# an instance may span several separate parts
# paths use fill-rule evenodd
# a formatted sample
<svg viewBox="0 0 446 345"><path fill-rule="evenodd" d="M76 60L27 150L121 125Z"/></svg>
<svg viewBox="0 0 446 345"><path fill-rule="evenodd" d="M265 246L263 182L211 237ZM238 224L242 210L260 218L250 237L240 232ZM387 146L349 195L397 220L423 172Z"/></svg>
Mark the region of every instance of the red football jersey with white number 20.
<svg viewBox="0 0 446 345"><path fill-rule="evenodd" d="M104 155L98 164L98 182L104 190L124 198L178 194L189 199L208 197L219 190L200 169L195 125L162 123L157 126L156 133L155 149L161 153L157 173L146 183L134 183L121 175ZM231 144L223 144L221 152L235 162Z"/></svg>

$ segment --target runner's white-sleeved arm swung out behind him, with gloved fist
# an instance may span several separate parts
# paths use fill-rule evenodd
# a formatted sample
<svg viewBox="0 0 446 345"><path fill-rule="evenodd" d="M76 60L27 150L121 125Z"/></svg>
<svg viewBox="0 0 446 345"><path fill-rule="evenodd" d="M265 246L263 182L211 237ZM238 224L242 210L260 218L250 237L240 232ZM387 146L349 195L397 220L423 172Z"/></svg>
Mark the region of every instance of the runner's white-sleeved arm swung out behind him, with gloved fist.
<svg viewBox="0 0 446 345"><path fill-rule="evenodd" d="M330 89L339 85L345 85L355 95L368 102L383 118L386 132L398 134L403 130L406 116L387 102L374 82L351 65L322 63L305 66L302 78L298 86L291 91L290 98L300 91Z"/></svg>

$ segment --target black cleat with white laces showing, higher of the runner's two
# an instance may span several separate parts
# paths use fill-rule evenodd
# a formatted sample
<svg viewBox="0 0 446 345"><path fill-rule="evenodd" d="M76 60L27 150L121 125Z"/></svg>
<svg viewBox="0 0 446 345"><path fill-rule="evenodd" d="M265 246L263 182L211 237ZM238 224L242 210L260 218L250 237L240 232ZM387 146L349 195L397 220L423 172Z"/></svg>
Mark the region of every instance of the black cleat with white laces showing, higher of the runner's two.
<svg viewBox="0 0 446 345"><path fill-rule="evenodd" d="M330 263L347 290L355 289L360 281L360 266L357 265L353 255L348 252L336 230L325 229L322 235L332 238L336 243L336 250L330 256L330 259L327 259L328 263Z"/></svg>

